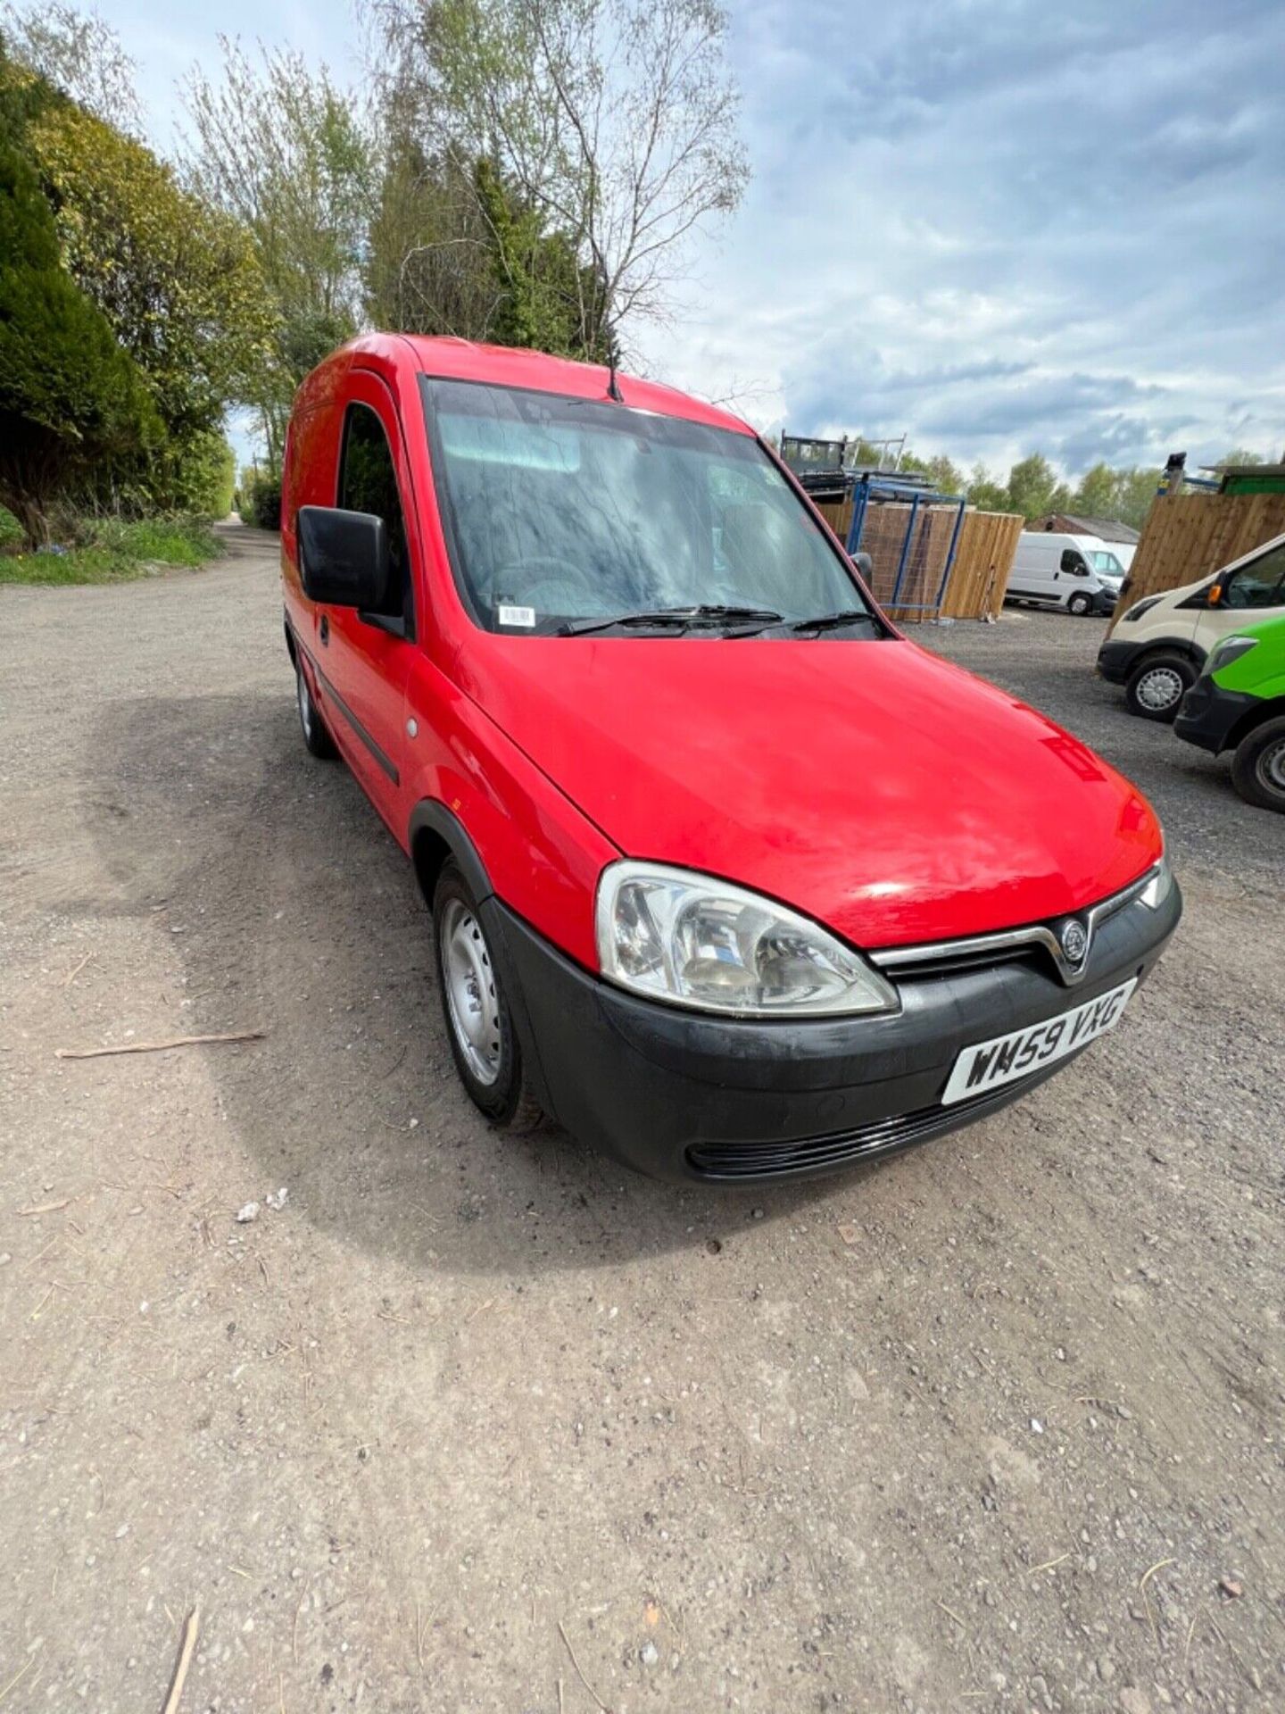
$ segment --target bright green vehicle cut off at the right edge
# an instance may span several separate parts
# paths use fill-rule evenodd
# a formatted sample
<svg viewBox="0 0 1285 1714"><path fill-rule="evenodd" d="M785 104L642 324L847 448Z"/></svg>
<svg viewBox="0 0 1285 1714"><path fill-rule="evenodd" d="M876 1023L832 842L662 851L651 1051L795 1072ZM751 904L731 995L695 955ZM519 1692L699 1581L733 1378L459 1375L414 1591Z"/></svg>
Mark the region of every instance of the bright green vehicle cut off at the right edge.
<svg viewBox="0 0 1285 1714"><path fill-rule="evenodd" d="M1232 631L1210 650L1174 730L1215 756L1235 751L1240 797L1285 812L1285 619Z"/></svg>

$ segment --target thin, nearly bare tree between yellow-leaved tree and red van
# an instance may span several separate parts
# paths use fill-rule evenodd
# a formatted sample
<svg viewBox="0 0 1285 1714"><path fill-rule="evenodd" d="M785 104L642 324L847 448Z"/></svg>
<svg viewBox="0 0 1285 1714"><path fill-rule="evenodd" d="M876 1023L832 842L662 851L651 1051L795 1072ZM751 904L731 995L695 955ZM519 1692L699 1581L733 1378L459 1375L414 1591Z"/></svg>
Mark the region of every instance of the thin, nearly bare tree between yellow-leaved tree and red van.
<svg viewBox="0 0 1285 1714"><path fill-rule="evenodd" d="M279 463L298 382L360 324L375 149L353 96L293 50L252 63L219 38L218 79L185 86L188 183L248 233L276 327L247 394Z"/></svg>

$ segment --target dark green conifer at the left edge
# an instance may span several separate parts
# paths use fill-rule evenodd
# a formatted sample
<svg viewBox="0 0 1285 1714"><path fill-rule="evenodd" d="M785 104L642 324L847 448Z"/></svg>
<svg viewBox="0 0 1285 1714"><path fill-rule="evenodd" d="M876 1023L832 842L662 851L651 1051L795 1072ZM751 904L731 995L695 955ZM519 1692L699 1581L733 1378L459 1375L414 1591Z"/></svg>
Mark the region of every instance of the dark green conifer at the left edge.
<svg viewBox="0 0 1285 1714"><path fill-rule="evenodd" d="M0 504L39 547L70 482L163 430L137 367L60 267L9 70L0 50Z"/></svg>

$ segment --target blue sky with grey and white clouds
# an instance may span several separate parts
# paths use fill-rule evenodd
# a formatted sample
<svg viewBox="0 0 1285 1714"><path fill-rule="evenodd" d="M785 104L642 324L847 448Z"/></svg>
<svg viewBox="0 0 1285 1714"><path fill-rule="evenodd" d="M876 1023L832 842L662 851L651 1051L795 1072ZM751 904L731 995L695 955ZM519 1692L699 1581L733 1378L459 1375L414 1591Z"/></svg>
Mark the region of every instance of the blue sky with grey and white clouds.
<svg viewBox="0 0 1285 1714"><path fill-rule="evenodd" d="M344 0L101 0L158 135L214 31L356 72ZM649 372L761 427L1199 464L1285 447L1280 0L732 0L754 182ZM158 22L159 19L159 22Z"/></svg>

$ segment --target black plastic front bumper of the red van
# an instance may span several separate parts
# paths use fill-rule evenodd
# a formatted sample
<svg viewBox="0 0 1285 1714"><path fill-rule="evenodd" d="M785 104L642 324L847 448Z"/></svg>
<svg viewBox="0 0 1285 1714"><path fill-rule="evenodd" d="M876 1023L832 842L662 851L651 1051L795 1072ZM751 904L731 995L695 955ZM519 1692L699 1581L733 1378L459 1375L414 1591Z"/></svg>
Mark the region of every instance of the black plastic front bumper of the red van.
<svg viewBox="0 0 1285 1714"><path fill-rule="evenodd" d="M615 1160L677 1183L831 1172L970 1124L1057 1066L942 1107L963 1047L1148 975L1177 927L1174 884L1095 934L1081 982L1047 953L898 980L901 1011L747 1022L656 1004L601 982L497 898L481 907L526 1064L547 1111ZM1067 1064L1069 1061L1061 1061Z"/></svg>

